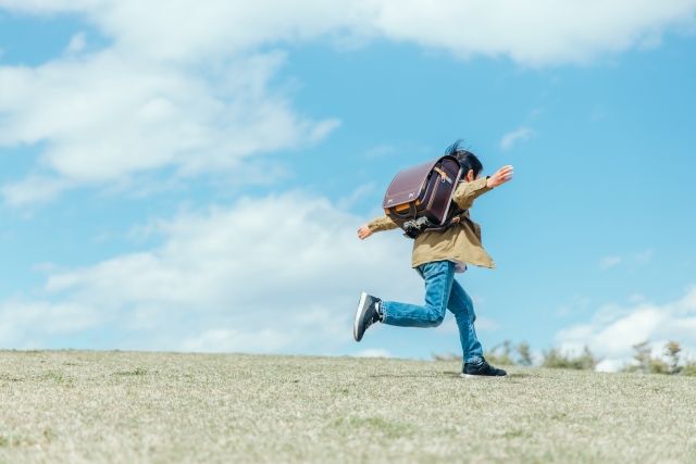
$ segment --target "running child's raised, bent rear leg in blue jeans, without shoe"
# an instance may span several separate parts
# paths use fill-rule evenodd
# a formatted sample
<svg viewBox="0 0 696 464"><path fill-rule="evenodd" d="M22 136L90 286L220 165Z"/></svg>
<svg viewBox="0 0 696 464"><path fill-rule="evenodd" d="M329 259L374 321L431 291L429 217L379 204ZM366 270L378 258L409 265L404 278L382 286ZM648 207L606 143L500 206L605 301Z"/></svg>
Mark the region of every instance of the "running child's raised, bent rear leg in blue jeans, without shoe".
<svg viewBox="0 0 696 464"><path fill-rule="evenodd" d="M437 261L417 267L425 280L425 305L383 301L383 323L401 327L437 327L445 318L449 291L455 280L455 264Z"/></svg>

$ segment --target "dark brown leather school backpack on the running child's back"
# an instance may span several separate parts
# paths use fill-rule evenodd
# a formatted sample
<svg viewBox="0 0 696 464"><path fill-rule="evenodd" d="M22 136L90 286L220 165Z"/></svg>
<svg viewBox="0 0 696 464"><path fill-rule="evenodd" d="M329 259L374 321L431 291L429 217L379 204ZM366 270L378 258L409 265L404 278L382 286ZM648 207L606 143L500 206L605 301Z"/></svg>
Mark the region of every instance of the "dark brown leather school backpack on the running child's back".
<svg viewBox="0 0 696 464"><path fill-rule="evenodd" d="M447 213L462 171L450 155L403 170L389 184L382 208L403 229L405 237L445 230L461 220L455 216L447 221Z"/></svg>

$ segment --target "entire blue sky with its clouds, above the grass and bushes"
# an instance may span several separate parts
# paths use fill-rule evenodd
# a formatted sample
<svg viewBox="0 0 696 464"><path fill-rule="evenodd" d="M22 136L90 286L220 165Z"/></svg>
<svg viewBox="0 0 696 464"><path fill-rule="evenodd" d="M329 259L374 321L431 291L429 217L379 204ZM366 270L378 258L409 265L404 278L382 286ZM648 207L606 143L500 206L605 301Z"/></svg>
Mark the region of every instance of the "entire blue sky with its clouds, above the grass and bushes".
<svg viewBox="0 0 696 464"><path fill-rule="evenodd" d="M310 3L0 2L3 348L457 351L350 336L360 291L422 298L355 230L457 138L515 167L458 277L484 348L696 348L696 3Z"/></svg>

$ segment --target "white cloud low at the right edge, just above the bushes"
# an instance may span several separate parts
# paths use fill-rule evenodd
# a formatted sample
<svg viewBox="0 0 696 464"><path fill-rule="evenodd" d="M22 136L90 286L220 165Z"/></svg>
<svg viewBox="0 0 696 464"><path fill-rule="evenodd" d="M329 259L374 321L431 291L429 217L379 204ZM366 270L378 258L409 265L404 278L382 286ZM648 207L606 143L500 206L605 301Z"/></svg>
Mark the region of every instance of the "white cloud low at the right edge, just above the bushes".
<svg viewBox="0 0 696 464"><path fill-rule="evenodd" d="M602 371L616 371L629 362L633 346L650 340L657 346L668 340L682 343L687 351L696 349L696 287L679 301L655 304L633 299L635 305L607 305L599 309L589 323L560 330L556 340L567 350L587 344L605 361Z"/></svg>

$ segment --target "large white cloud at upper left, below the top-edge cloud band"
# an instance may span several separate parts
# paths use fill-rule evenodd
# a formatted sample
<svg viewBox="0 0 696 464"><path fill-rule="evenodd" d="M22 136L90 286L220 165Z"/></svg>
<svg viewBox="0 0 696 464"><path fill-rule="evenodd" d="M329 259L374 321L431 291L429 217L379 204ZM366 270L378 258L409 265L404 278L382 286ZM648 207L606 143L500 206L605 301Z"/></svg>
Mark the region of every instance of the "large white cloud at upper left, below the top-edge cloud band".
<svg viewBox="0 0 696 464"><path fill-rule="evenodd" d="M243 159L322 139L338 124L297 116L266 88L278 53L201 73L115 51L37 68L0 67L0 146L46 142L42 174L2 189L11 204L80 185L127 184L167 166L179 176L238 170ZM244 72L241 72L244 70Z"/></svg>

